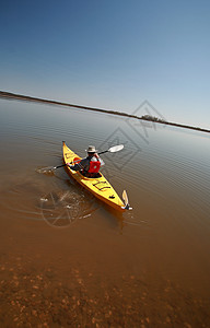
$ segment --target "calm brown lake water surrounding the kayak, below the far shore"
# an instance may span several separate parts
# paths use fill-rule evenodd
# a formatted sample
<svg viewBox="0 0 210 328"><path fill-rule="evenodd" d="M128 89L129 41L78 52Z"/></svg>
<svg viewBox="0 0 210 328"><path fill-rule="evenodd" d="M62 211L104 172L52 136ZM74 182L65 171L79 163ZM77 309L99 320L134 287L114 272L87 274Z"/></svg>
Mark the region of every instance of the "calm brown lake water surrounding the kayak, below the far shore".
<svg viewBox="0 0 210 328"><path fill-rule="evenodd" d="M210 137L0 99L1 327L210 327ZM132 211L59 168L61 141L104 155Z"/></svg>

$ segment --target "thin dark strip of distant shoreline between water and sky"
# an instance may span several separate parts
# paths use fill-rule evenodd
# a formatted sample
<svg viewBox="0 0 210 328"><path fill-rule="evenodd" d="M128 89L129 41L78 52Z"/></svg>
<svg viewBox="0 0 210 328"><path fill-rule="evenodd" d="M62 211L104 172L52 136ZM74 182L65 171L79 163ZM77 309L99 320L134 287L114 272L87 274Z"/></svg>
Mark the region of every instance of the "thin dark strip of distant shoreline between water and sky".
<svg viewBox="0 0 210 328"><path fill-rule="evenodd" d="M100 113L105 113L105 114L112 114L112 115L135 118L135 119L139 119L139 120L144 120L144 121L152 121L152 122L156 122L156 124L161 124L161 125L167 125L167 126L172 126L172 127L185 128L185 129L210 133L210 130L198 128L198 127L191 127L191 126L168 122L168 121L159 121L159 120L156 121L156 120L152 120L152 119L145 119L145 118L139 117L137 115L127 114L124 112L121 113L121 112L110 110L110 109L102 109L102 108L88 107L88 106L82 106L82 105L68 104L68 103L62 103L62 102L57 102L57 101L42 99L38 97L32 97L32 96L26 96L26 95L22 95L22 94L11 93L11 92L0 91L0 97L28 101L28 102L38 102L38 103L59 105L59 106L68 106L68 107L74 107L74 108L80 108L80 109L86 109L86 110L94 110L94 112L100 112Z"/></svg>

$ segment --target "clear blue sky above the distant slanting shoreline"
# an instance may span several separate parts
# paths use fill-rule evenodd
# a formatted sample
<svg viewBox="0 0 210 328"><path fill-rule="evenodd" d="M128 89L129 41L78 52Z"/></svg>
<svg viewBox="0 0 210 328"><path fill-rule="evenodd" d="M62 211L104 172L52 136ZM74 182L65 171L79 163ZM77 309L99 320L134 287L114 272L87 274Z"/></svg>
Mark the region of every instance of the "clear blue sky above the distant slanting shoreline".
<svg viewBox="0 0 210 328"><path fill-rule="evenodd" d="M210 1L7 0L0 90L210 128Z"/></svg>

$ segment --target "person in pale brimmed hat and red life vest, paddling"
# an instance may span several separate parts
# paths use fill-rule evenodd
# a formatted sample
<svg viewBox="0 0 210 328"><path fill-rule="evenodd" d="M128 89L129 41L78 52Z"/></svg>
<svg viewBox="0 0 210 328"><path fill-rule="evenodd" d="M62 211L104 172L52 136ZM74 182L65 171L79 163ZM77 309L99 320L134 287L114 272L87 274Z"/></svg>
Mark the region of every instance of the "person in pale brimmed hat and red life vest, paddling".
<svg viewBox="0 0 210 328"><path fill-rule="evenodd" d="M80 163L71 165L69 167L73 171L80 171L85 177L96 178L100 177L100 167L104 165L104 161L98 156L94 145L89 145L86 159L81 160Z"/></svg>

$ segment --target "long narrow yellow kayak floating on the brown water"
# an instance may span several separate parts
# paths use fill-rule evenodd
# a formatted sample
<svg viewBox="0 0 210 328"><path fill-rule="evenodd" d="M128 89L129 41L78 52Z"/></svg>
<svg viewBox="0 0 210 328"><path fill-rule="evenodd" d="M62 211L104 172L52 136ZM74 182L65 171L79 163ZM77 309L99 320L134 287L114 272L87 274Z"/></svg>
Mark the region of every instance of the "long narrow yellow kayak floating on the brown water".
<svg viewBox="0 0 210 328"><path fill-rule="evenodd" d="M72 150L70 150L65 141L62 142L62 153L65 164L71 163L73 161L82 160ZM100 173L97 178L89 178L83 176L79 171L71 169L68 165L66 166L68 173L85 189L91 191L95 197L110 206L118 211L125 211L127 208L122 200L119 198L115 189L107 181L107 179Z"/></svg>

